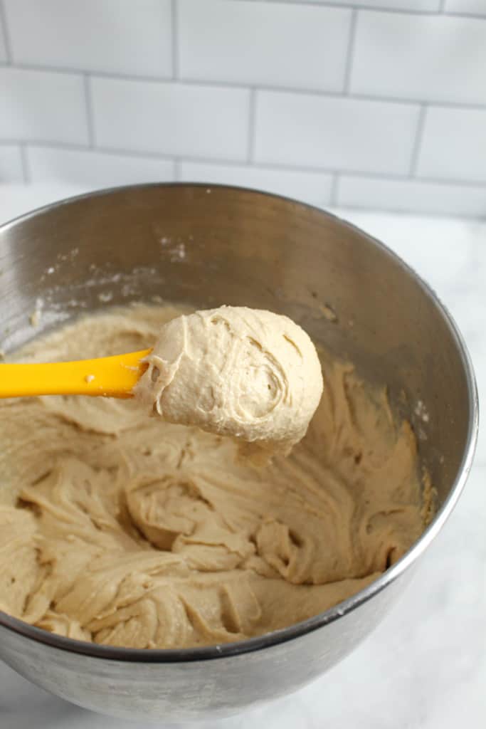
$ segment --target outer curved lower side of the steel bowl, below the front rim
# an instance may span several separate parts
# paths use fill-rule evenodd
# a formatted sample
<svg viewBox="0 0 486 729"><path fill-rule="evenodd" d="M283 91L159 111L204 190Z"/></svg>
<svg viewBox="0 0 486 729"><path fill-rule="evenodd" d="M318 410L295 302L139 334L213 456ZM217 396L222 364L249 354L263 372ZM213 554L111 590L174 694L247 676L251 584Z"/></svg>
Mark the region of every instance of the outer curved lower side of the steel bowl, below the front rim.
<svg viewBox="0 0 486 729"><path fill-rule="evenodd" d="M373 600L315 631L240 655L185 663L107 660L1 627L0 658L50 693L119 719L224 718L293 693L332 668L380 623L412 572L407 570Z"/></svg>

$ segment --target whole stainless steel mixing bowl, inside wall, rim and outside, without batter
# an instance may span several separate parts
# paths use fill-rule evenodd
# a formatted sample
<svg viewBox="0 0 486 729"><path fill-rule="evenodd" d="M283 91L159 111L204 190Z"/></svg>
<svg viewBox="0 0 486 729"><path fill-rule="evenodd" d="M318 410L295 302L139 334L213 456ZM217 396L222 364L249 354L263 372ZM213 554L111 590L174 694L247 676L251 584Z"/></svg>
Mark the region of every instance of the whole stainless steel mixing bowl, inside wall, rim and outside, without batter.
<svg viewBox="0 0 486 729"><path fill-rule="evenodd" d="M434 520L397 564L303 623L222 646L134 650L55 636L0 613L0 656L9 666L99 712L189 721L297 690L380 623L457 502L477 438L477 391L463 340L407 265L355 227L292 200L155 184L95 192L4 225L0 270L7 350L39 332L28 325L39 305L44 327L107 300L157 297L287 313L365 377L388 383L438 492Z"/></svg>

